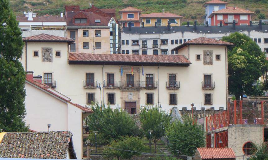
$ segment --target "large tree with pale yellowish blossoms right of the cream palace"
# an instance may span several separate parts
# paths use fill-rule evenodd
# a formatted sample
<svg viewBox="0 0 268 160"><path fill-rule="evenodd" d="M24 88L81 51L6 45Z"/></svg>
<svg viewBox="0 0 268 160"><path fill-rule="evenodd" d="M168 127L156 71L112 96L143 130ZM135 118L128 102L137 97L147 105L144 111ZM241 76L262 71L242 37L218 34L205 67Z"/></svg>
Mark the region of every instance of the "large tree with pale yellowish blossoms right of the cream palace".
<svg viewBox="0 0 268 160"><path fill-rule="evenodd" d="M255 95L252 84L262 75L265 54L246 34L235 32L222 40L234 43L228 47L228 90L236 100L244 94Z"/></svg>

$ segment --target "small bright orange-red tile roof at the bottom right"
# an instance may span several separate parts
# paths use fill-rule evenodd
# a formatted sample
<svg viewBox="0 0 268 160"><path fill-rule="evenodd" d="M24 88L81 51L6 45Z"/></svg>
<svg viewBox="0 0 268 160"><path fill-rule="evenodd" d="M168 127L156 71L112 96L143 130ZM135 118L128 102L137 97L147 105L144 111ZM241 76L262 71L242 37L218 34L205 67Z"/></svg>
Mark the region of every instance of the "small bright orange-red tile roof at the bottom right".
<svg viewBox="0 0 268 160"><path fill-rule="evenodd" d="M197 148L202 159L236 158L232 148Z"/></svg>

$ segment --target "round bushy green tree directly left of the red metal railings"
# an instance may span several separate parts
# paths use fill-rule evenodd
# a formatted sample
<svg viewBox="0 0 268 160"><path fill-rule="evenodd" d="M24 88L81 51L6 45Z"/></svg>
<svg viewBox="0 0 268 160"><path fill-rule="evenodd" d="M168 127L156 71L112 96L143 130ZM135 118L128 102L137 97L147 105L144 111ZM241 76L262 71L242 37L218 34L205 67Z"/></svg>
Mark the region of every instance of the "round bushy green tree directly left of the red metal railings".
<svg viewBox="0 0 268 160"><path fill-rule="evenodd" d="M205 145L204 131L184 116L184 122L175 121L166 130L169 148L173 154L194 155L196 148Z"/></svg>

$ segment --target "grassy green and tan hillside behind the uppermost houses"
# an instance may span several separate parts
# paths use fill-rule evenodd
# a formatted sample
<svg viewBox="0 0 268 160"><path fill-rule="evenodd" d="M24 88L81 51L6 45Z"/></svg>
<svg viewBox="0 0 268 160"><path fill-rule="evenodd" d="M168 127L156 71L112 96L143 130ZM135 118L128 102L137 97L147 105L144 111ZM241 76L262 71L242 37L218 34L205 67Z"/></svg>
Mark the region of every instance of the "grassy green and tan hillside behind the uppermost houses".
<svg viewBox="0 0 268 160"><path fill-rule="evenodd" d="M205 14L204 3L208 0L11 0L11 8L16 15L23 15L24 11L35 11L39 15L55 15L64 12L64 5L80 5L80 8L89 8L89 3L99 8L115 8L116 18L120 18L118 11L122 8L132 6L139 8L143 13L166 12L175 13L183 17L182 21L198 20L202 23L202 16ZM268 18L268 0L225 0L228 6L249 8L250 11L265 14ZM252 21L258 21L255 13Z"/></svg>

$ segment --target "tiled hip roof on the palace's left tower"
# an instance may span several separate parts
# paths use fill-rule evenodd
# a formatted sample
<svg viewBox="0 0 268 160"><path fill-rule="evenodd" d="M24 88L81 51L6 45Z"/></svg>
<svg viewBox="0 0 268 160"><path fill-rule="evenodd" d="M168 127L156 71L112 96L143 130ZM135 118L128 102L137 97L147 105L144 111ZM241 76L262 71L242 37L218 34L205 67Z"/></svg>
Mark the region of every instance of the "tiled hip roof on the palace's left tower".
<svg viewBox="0 0 268 160"><path fill-rule="evenodd" d="M22 38L23 41L27 42L68 42L68 43L73 43L75 42L72 39L69 38L64 38L64 37L59 37L59 36L54 36L50 34L38 34L35 36L30 36L30 37L25 37Z"/></svg>

